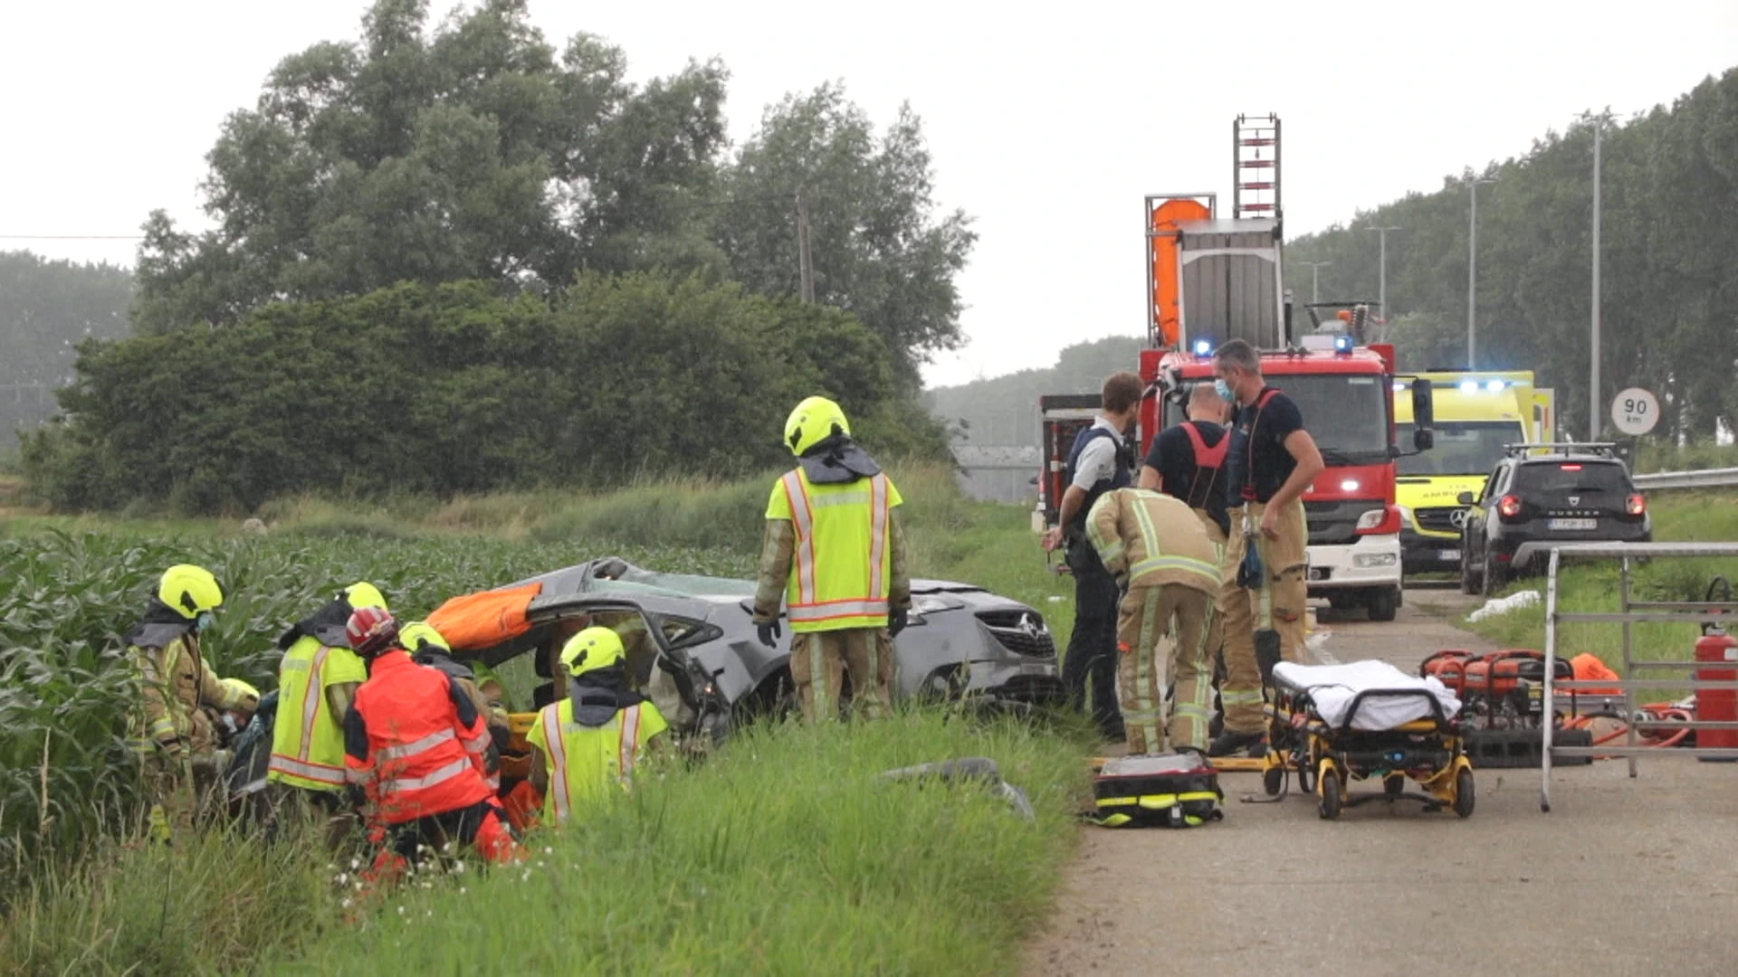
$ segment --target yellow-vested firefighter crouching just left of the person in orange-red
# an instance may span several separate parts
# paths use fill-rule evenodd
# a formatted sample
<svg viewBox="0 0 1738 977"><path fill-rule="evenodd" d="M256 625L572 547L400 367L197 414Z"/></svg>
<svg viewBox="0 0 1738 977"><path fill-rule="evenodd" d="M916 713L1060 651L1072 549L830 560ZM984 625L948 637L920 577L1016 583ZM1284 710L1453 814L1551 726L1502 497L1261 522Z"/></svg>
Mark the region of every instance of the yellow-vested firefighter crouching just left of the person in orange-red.
<svg viewBox="0 0 1738 977"><path fill-rule="evenodd" d="M344 626L363 607L386 610L386 596L365 581L341 589L278 638L283 661L266 781L276 807L325 819L332 847L356 827L344 791L344 714L368 669Z"/></svg>

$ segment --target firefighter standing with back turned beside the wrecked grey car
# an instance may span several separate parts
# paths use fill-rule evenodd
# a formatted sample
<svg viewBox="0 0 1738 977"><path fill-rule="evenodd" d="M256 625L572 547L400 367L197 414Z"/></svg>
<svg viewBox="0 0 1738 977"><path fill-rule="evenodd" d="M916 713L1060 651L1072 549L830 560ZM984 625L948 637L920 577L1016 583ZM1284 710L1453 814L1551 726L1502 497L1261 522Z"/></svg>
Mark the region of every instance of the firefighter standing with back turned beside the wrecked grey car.
<svg viewBox="0 0 1738 977"><path fill-rule="evenodd" d="M772 487L754 624L777 647L791 624L791 681L808 721L838 714L845 675L866 716L885 716L893 641L911 612L899 488L852 440L839 405L810 396L784 422L796 468Z"/></svg>

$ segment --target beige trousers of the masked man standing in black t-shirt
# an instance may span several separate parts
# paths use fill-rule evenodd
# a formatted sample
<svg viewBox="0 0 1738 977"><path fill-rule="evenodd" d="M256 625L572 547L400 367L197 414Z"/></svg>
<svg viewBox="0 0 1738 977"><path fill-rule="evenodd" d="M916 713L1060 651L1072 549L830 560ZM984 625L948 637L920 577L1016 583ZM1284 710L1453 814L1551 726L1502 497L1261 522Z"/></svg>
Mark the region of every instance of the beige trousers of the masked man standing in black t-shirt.
<svg viewBox="0 0 1738 977"><path fill-rule="evenodd" d="M1231 539L1225 544L1218 612L1225 628L1225 681L1218 687L1218 701L1225 708L1225 728L1236 734L1258 734L1265 728L1262 716L1262 669L1255 661L1255 633L1279 633L1281 661L1304 661L1304 607L1309 598L1309 527L1304 522L1304 501L1293 501L1279 509L1277 539L1260 532L1262 502L1248 502L1231 511ZM1262 556L1262 586L1237 586L1237 565L1243 563L1244 525L1255 530L1255 546Z"/></svg>

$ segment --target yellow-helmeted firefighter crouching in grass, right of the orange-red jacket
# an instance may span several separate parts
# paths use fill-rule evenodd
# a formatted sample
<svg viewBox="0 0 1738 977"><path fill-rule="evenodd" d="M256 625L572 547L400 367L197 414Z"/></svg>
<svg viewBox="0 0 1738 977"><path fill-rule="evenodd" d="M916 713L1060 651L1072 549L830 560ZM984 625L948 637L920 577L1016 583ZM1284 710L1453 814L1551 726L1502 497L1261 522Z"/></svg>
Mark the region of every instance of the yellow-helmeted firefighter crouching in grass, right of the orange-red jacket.
<svg viewBox="0 0 1738 977"><path fill-rule="evenodd" d="M567 699L537 713L525 742L532 748L532 786L544 794L544 819L574 817L577 807L624 789L647 753L669 728L664 714L627 685L622 638L586 628L561 647Z"/></svg>

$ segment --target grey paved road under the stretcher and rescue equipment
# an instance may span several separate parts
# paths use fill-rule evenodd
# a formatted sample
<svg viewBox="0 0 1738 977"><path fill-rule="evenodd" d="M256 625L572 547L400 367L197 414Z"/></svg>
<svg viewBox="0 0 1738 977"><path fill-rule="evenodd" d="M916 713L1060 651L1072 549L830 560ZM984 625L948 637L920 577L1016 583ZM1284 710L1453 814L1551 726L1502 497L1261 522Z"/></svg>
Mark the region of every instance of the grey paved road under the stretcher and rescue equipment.
<svg viewBox="0 0 1738 977"><path fill-rule="evenodd" d="M1323 650L1403 669L1488 648L1408 591L1390 624L1323 607ZM1644 758L1552 775L1477 774L1470 819L1368 803L1326 822L1312 796L1239 803L1187 831L1086 829L1027 974L1738 974L1738 765ZM1361 788L1364 784L1356 784ZM1378 788L1380 789L1380 788Z"/></svg>

